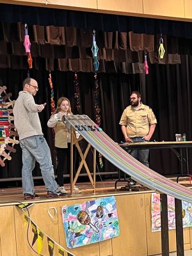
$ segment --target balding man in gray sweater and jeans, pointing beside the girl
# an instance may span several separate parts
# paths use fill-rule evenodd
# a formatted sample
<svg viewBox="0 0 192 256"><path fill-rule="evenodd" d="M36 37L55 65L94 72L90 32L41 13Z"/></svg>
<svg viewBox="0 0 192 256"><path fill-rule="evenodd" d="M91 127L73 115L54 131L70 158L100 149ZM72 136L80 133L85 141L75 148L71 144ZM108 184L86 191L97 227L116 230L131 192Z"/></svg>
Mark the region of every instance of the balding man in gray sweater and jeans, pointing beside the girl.
<svg viewBox="0 0 192 256"><path fill-rule="evenodd" d="M33 96L38 92L38 83L35 79L26 78L23 91L15 101L13 108L15 128L19 134L20 147L22 148L22 188L24 199L40 198L35 194L32 171L35 161L40 164L42 177L47 189L47 198L66 196L67 193L56 193L58 185L54 178L51 161L51 152L44 134L38 112L45 108L45 104L35 104Z"/></svg>

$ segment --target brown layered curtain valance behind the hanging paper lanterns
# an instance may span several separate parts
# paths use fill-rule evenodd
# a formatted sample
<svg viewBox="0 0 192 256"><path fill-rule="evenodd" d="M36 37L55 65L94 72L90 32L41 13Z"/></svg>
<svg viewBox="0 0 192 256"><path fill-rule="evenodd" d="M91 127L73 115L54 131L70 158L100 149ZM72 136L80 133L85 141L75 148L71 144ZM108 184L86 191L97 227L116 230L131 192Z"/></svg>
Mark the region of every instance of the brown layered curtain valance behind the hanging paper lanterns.
<svg viewBox="0 0 192 256"><path fill-rule="evenodd" d="M24 24L0 23L0 68L28 68L24 49ZM91 30L29 26L33 68L93 72ZM166 53L159 60L159 35L96 32L99 72L143 73L144 53L148 64L180 63L178 38L163 36Z"/></svg>

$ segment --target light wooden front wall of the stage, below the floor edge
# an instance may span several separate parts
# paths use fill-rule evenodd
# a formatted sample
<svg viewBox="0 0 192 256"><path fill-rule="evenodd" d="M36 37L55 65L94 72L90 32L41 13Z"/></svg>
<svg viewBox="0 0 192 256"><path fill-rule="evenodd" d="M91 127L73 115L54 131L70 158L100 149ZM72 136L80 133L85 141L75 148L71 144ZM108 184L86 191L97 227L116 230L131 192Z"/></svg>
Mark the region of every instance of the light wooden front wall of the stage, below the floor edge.
<svg viewBox="0 0 192 256"><path fill-rule="evenodd" d="M112 195L112 194L111 194ZM115 195L115 194L113 194ZM60 209L63 205L79 204L84 201L109 196L82 196L67 200L40 200L29 207L31 220L41 228L45 234L64 248L65 235L61 220ZM43 198L43 197L42 197ZM115 195L118 220L120 225L120 236L100 243L90 244L70 250L75 255L81 256L147 256L161 253L161 232L151 232L150 200L151 193L146 192L119 192ZM58 209L57 216L52 220L48 214L50 207ZM1 256L26 256L36 255L28 246L26 239L26 227L24 228L23 212L13 204L4 204L0 212L1 223ZM192 230L184 228L184 248L192 247ZM170 230L170 252L176 251L175 230ZM49 255L47 248L47 237L44 239L42 255ZM29 226L29 242L33 240L31 225ZM33 248L36 250L36 243ZM54 255L55 252L54 252Z"/></svg>

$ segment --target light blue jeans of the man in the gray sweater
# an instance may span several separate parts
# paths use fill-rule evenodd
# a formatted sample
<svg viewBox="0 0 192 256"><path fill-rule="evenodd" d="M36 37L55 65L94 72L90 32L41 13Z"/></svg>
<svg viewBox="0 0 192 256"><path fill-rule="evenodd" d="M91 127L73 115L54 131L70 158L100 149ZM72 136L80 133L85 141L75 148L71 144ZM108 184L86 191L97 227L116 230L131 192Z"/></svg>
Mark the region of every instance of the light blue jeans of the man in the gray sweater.
<svg viewBox="0 0 192 256"><path fill-rule="evenodd" d="M31 136L20 140L22 148L22 188L23 193L35 193L32 171L35 161L40 164L42 177L47 191L56 193L57 183L51 161L51 152L43 135Z"/></svg>

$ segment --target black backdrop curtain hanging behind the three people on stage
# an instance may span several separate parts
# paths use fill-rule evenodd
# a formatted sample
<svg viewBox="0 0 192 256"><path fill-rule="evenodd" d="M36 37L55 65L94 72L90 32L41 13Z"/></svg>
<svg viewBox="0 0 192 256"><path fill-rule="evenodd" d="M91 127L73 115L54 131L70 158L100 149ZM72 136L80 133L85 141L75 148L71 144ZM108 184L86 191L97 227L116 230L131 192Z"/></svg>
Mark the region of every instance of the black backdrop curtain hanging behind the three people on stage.
<svg viewBox="0 0 192 256"><path fill-rule="evenodd" d="M101 127L116 142L123 140L118 122L124 108L129 104L129 95L133 90L139 90L143 95L143 103L150 106L157 117L157 127L152 140L174 141L175 133L186 133L187 140L191 136L191 83L192 58L181 56L180 65L150 65L149 74L98 74L100 87ZM77 73L80 84L81 113L94 120L93 73ZM22 80L27 76L26 70L0 69L3 85L12 92L12 99L16 99L22 90ZM43 113L40 113L42 128L51 147L54 157L54 143L51 129L47 127L47 120L51 113L49 72L32 70L31 77L35 78L40 90L35 97L38 104L47 102ZM76 114L76 99L74 97L74 73L52 72L55 100L65 96L72 103L72 111ZM21 177L22 159L19 145L17 152L12 154L12 161L6 160L6 166L1 168L1 178ZM189 166L191 166L191 150L189 150ZM92 153L88 156L91 164ZM54 160L54 159L53 159ZM55 163L54 163L55 164ZM99 166L99 164L98 164ZM170 175L179 173L179 161L171 150L150 150L150 166L153 170ZM116 170L115 166L104 159L104 168L100 171ZM36 166L34 175L40 175Z"/></svg>

